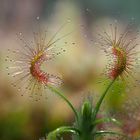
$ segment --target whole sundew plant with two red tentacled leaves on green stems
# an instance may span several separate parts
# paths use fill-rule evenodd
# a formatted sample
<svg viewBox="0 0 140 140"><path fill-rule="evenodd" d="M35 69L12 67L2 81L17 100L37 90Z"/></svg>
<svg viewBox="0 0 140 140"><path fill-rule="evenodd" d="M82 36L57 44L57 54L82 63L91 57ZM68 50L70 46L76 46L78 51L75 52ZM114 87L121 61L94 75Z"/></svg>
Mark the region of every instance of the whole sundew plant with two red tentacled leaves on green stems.
<svg viewBox="0 0 140 140"><path fill-rule="evenodd" d="M49 41L46 41L47 37L45 32L34 33L34 45L32 46L28 45L22 34L20 34L24 48L22 51L12 51L17 54L19 58L12 60L12 67L7 67L7 69L11 71L9 75L14 78L17 77L18 80L12 83L12 85L18 87L19 91L26 90L32 97L38 100L40 98L36 95L42 93L41 91L44 92L47 88L62 98L75 115L75 121L71 126L56 128L54 131L46 134L46 137L42 139L62 140L63 136L68 133L73 140L101 140L107 138L108 140L132 140L133 138L131 136L117 130L111 130L109 128L100 129L99 125L106 123L112 123L116 125L116 127L120 127L122 124L121 120L116 120L111 117L99 118L98 115L105 97L118 79L124 81L125 78L129 79L130 77L130 79L135 80L135 74L133 73L135 73L135 68L139 65L139 52L137 51L137 47L139 46L137 44L138 32L131 27L132 25L128 25L124 31L119 33L118 27L115 24L110 25L110 32L106 30L98 34L98 46L104 51L107 57L109 57L105 76L110 83L97 101L93 101L92 97L87 97L83 101L81 108L77 109L69 99L65 97L65 94L58 90L58 85L62 84L63 79L42 69L44 62L47 64L47 62L56 55L65 51L60 49L59 52L55 52L54 49L54 44L67 36L64 35L61 38L55 38L63 26L60 27ZM28 82L28 84L24 84L25 81ZM18 86L19 83L22 84L21 87ZM93 102L96 102L94 106ZM135 139L138 140L140 138L137 137Z"/></svg>

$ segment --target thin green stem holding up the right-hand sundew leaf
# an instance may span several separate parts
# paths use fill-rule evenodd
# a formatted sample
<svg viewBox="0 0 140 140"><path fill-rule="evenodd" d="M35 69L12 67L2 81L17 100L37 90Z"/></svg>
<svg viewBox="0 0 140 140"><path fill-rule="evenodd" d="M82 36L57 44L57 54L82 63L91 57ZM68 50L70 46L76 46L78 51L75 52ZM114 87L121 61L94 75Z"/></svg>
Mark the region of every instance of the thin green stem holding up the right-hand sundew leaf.
<svg viewBox="0 0 140 140"><path fill-rule="evenodd" d="M106 90L103 92L102 96L100 97L99 101L97 102L94 112L93 112L93 121L96 119L97 113L100 109L100 106L108 92L108 90L110 89L110 87L112 86L112 84L115 82L116 79L112 80L111 83L108 85L108 87L106 88Z"/></svg>

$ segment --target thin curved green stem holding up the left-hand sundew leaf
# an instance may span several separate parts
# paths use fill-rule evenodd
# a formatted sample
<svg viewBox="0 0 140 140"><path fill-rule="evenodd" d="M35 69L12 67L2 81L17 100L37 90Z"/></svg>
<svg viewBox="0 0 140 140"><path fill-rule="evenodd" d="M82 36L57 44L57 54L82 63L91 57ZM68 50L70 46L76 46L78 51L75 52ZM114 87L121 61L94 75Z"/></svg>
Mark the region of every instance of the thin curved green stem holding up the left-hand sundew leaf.
<svg viewBox="0 0 140 140"><path fill-rule="evenodd" d="M78 120L78 113L77 111L75 110L75 108L73 107L72 103L60 92L58 91L56 88L50 86L50 85L47 85L47 87L53 91L55 94L57 94L59 97L61 97L67 104L68 106L72 109L72 111L74 112L75 116L76 116L76 119Z"/></svg>

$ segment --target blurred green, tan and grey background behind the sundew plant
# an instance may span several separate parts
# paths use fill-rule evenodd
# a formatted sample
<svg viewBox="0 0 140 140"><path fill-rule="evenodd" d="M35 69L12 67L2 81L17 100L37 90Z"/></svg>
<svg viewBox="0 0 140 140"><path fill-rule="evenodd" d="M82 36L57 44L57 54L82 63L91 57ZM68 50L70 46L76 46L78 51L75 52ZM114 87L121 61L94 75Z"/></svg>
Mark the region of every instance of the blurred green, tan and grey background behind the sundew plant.
<svg viewBox="0 0 140 140"><path fill-rule="evenodd" d="M98 82L107 62L95 45L97 31L108 29L116 21L123 27L132 20L134 28L139 29L139 5L139 0L0 0L0 140L38 140L74 120L70 108L52 92L46 91L36 102L28 93L20 96L11 86L5 58L10 56L7 49L21 47L17 33L22 32L31 42L33 31L41 28L49 32L50 38L69 21L56 36L72 32L56 42L56 49L61 46L66 52L57 56L50 67L62 76L64 85L60 89L78 109L88 95L95 103L105 88ZM122 120L121 131L133 137L140 135L140 76L137 78L135 86L117 82L101 111L102 115ZM102 81L107 82L104 78Z"/></svg>

